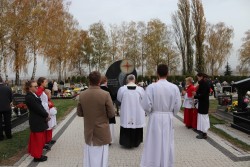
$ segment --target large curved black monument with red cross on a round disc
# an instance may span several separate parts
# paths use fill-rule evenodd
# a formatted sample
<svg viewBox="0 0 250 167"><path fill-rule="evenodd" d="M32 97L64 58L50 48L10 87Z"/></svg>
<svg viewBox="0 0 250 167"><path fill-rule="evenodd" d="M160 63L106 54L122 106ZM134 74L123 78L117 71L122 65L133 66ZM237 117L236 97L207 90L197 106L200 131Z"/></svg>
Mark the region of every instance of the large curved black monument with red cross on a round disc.
<svg viewBox="0 0 250 167"><path fill-rule="evenodd" d="M108 68L106 77L112 96L117 97L118 89L126 84L126 78L129 74L137 77L134 63L128 59L116 61Z"/></svg>

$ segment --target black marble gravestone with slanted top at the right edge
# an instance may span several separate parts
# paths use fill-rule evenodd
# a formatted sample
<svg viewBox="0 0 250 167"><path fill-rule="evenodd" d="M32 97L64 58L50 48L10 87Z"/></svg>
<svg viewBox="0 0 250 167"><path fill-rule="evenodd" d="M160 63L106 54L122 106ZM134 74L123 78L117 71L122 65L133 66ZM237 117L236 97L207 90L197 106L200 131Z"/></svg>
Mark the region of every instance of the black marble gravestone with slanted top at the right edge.
<svg viewBox="0 0 250 167"><path fill-rule="evenodd" d="M250 90L250 78L234 83L238 92L238 111L233 113L232 127L250 134L250 109L244 104L244 96Z"/></svg>

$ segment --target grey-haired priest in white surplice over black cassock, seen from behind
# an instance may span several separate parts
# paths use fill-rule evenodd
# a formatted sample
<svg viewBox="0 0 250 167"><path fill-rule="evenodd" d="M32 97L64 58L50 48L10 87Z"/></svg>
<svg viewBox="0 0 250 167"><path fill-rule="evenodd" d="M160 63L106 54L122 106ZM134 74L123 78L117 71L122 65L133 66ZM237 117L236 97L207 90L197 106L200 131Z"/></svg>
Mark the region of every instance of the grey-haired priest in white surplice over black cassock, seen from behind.
<svg viewBox="0 0 250 167"><path fill-rule="evenodd" d="M127 85L122 86L117 93L117 100L121 102L120 112L120 145L133 148L143 141L143 127L145 126L145 111L142 100L145 92L135 84L135 76L127 76Z"/></svg>

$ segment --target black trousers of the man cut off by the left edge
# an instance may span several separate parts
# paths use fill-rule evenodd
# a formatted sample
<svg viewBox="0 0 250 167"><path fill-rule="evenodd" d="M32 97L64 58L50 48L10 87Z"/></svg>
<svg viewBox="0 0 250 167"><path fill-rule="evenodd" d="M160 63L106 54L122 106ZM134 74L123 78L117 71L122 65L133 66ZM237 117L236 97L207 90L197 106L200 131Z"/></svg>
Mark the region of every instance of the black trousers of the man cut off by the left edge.
<svg viewBox="0 0 250 167"><path fill-rule="evenodd" d="M7 138L11 138L11 110L0 111L0 139L3 139L3 131Z"/></svg>

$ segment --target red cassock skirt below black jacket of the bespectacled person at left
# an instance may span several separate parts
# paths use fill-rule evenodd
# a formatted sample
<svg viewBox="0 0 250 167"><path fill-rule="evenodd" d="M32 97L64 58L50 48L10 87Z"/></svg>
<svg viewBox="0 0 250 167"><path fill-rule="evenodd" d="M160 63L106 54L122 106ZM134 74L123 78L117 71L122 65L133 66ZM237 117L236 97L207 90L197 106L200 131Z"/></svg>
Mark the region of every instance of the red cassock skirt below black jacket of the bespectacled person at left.
<svg viewBox="0 0 250 167"><path fill-rule="evenodd" d="M28 152L34 158L40 158L45 145L45 132L30 132Z"/></svg>

